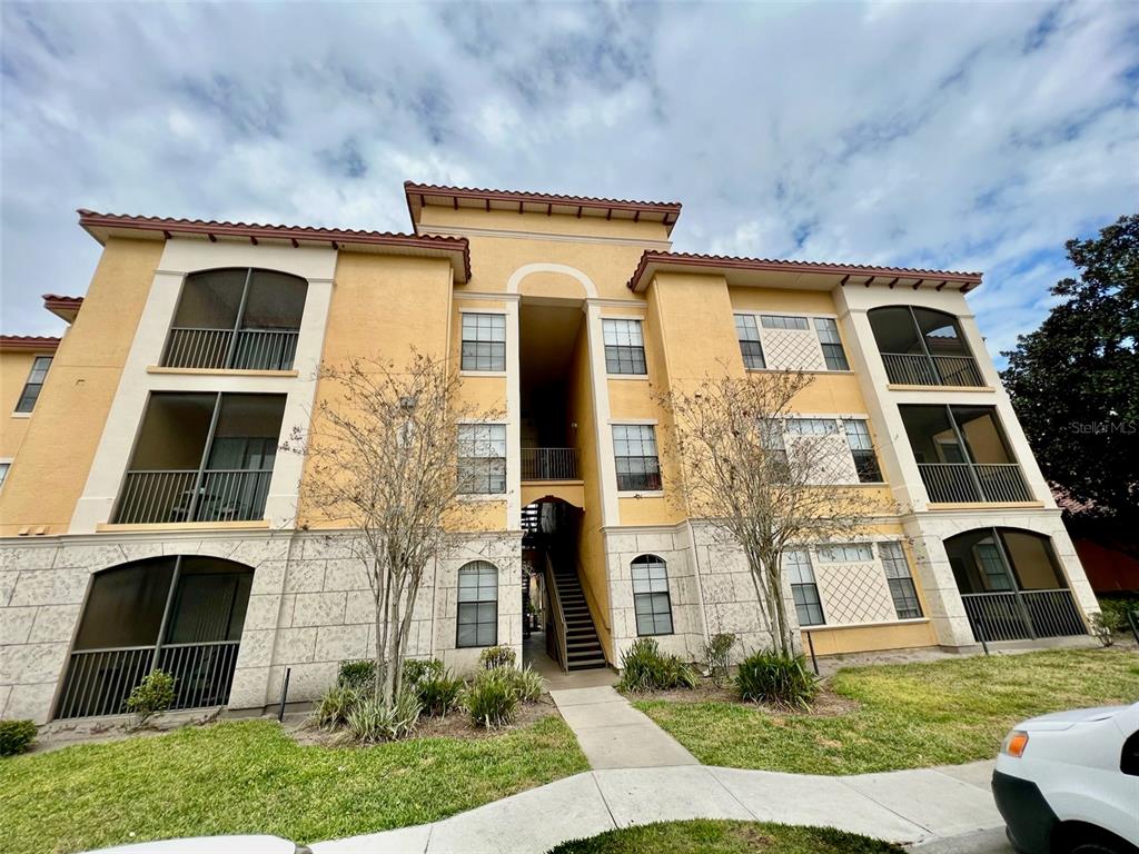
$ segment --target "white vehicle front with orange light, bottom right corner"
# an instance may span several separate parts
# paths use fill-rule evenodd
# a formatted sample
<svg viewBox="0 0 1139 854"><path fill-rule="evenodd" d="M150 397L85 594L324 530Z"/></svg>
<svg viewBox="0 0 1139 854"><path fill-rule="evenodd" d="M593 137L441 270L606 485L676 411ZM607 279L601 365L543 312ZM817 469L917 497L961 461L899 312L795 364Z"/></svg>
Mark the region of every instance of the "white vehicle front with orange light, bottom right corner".
<svg viewBox="0 0 1139 854"><path fill-rule="evenodd" d="M1022 854L1139 854L1139 703L1017 724L993 797Z"/></svg>

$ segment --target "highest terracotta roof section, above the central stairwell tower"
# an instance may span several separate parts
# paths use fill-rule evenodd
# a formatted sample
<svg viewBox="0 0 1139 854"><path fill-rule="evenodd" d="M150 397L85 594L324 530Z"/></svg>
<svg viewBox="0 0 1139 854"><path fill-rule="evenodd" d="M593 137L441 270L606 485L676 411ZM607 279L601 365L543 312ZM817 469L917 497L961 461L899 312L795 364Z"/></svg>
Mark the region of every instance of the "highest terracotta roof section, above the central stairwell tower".
<svg viewBox="0 0 1139 854"><path fill-rule="evenodd" d="M516 211L518 213L543 213L548 216L599 217L605 220L631 220L633 222L659 222L669 232L680 219L679 202L633 202L630 199L596 198L592 196L562 196L552 192L523 192L519 190L486 190L472 187L443 187L429 183L403 182L403 195L408 202L408 215L419 231L419 220L424 207L437 205L458 211L460 207L484 211Z"/></svg>

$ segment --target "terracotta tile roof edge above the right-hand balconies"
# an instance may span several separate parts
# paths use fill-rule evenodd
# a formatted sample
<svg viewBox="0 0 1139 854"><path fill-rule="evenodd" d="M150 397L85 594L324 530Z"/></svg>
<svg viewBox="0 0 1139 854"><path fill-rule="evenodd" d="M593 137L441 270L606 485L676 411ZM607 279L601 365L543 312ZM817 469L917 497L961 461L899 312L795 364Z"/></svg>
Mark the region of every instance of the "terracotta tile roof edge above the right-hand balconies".
<svg viewBox="0 0 1139 854"><path fill-rule="evenodd" d="M781 261L777 258L746 258L729 255L698 255L683 252L646 252L641 255L637 270L628 282L630 290L644 290L648 285L646 273L653 266L693 266L714 270L755 270L792 273L823 273L843 277L841 285L870 285L876 279L891 279L879 284L904 284L915 289L921 285L936 287L957 285L962 293L981 284L981 273L964 273L949 270L926 270L909 266L872 266L867 264L837 264L817 261ZM904 280L904 281L903 281Z"/></svg>

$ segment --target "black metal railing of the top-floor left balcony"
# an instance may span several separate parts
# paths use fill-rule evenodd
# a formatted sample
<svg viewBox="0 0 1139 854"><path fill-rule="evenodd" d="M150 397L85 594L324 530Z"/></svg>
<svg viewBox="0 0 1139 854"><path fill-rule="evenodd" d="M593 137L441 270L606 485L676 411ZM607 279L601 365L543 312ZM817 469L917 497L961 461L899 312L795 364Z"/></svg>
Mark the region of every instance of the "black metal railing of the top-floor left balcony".
<svg viewBox="0 0 1139 854"><path fill-rule="evenodd" d="M239 329L235 332L232 329L173 327L162 364L212 370L290 370L298 335L296 329Z"/></svg>

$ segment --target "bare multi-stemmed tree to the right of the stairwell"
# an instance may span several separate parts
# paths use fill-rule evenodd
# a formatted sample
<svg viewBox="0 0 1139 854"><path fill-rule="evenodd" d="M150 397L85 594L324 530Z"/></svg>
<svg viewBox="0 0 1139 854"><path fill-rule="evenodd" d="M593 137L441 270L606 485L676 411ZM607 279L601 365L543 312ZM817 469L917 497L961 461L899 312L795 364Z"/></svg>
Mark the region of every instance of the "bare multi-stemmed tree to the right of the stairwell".
<svg viewBox="0 0 1139 854"><path fill-rule="evenodd" d="M665 444L680 466L674 495L743 549L772 648L784 655L794 651L784 550L850 536L884 509L850 483L851 452L834 420L827 428L796 417L795 399L813 379L726 368L691 391L658 395L670 414Z"/></svg>

